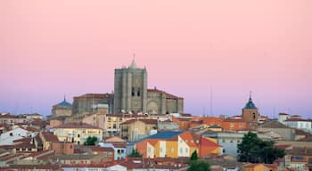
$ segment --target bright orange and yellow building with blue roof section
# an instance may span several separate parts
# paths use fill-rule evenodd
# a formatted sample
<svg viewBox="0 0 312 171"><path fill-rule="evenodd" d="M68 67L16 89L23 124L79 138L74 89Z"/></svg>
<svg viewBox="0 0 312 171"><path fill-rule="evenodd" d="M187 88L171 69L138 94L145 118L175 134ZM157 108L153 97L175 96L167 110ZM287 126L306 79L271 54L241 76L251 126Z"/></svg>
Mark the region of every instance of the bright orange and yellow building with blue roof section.
<svg viewBox="0 0 312 171"><path fill-rule="evenodd" d="M144 158L191 157L193 151L199 157L218 155L220 146L217 141L195 135L190 131L165 131L146 137L135 144L135 149Z"/></svg>

